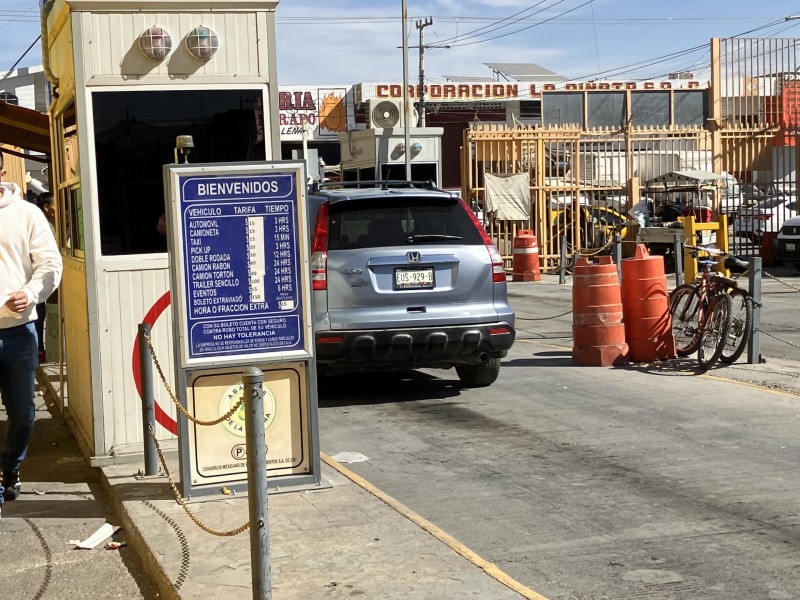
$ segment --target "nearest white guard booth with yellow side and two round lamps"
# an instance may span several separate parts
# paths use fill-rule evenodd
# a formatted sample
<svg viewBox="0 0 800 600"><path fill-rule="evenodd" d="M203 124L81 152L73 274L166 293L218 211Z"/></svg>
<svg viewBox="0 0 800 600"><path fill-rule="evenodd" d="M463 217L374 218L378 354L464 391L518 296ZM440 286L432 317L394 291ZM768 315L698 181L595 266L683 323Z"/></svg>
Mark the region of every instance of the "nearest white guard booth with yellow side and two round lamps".
<svg viewBox="0 0 800 600"><path fill-rule="evenodd" d="M43 62L64 256L60 402L93 464L140 460L137 326L172 364L162 167L280 158L275 9L267 0L49 0ZM157 435L176 407L155 382Z"/></svg>

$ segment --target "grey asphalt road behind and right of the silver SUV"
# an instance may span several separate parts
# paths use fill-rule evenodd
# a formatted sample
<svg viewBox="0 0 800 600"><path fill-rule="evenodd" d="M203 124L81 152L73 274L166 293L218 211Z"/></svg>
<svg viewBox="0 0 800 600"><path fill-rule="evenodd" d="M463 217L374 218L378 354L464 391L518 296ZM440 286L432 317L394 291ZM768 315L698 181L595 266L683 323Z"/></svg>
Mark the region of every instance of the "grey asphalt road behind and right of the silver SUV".
<svg viewBox="0 0 800 600"><path fill-rule="evenodd" d="M766 366L573 367L569 315L542 319L565 293L511 286L525 320L489 388L452 371L323 380L323 452L364 454L348 467L553 600L800 597L800 398L717 378ZM765 328L794 336L783 293Z"/></svg>

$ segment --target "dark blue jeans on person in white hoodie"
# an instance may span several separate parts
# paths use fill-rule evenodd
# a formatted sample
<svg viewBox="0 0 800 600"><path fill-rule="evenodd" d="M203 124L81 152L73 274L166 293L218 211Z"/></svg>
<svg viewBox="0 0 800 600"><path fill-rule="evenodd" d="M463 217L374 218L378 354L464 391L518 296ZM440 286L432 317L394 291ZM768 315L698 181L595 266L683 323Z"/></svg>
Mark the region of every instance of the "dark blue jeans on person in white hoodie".
<svg viewBox="0 0 800 600"><path fill-rule="evenodd" d="M0 452L3 473L19 469L28 450L36 418L33 395L38 366L38 342L33 323L0 329L0 397L8 417L6 443ZM0 484L0 503L2 492Z"/></svg>

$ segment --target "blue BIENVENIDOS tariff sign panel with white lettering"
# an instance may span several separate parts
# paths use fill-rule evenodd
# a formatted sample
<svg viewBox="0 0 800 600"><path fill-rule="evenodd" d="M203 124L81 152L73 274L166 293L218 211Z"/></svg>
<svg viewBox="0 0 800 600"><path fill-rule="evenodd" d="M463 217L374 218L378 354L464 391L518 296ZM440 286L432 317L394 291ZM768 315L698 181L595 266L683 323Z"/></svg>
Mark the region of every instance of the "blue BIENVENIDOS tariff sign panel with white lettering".
<svg viewBox="0 0 800 600"><path fill-rule="evenodd" d="M178 175L188 359L304 348L296 182Z"/></svg>

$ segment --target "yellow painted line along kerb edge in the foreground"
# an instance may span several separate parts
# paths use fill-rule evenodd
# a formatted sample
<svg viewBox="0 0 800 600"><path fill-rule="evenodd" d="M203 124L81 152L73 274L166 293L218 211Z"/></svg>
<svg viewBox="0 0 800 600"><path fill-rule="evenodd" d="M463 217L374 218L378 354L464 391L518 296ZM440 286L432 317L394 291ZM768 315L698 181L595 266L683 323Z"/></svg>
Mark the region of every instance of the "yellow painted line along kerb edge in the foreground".
<svg viewBox="0 0 800 600"><path fill-rule="evenodd" d="M332 468L336 469L339 473L347 477L350 481L358 485L359 487L363 488L364 490L368 491L370 494L381 500L384 504L388 505L389 507L393 508L401 515L406 517L408 520L412 521L428 533L430 533L433 537L438 539L440 542L445 544L446 546L450 547L452 550L460 554L462 557L466 558L469 562L471 562L476 567L483 569L483 571L489 575L495 581L502 583L504 586L514 590L523 598L527 598L528 600L548 600L545 596L534 592L532 589L525 587L516 579L513 579L511 576L507 575L500 568L495 565L494 563L490 563L488 560L481 558L475 552L467 548L464 544L459 542L449 533L446 533L424 517L421 517L413 510L408 508L399 500L392 498L385 492L382 492L374 485L372 485L369 481L364 479L363 477L356 475L350 469L339 463L338 461L333 460L330 456L325 454L324 452L320 452L320 457L322 460L331 466Z"/></svg>

